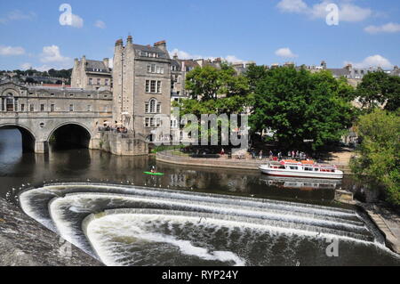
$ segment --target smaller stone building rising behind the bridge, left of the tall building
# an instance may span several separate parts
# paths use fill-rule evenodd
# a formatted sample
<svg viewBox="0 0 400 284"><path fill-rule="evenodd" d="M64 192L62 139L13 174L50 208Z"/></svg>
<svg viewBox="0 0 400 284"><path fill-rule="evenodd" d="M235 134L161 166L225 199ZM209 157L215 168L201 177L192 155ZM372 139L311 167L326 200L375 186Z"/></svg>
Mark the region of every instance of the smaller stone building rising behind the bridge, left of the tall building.
<svg viewBox="0 0 400 284"><path fill-rule="evenodd" d="M108 90L112 89L112 72L109 68L109 60L103 61L86 60L83 56L81 61L75 59L71 75L71 86L84 90Z"/></svg>

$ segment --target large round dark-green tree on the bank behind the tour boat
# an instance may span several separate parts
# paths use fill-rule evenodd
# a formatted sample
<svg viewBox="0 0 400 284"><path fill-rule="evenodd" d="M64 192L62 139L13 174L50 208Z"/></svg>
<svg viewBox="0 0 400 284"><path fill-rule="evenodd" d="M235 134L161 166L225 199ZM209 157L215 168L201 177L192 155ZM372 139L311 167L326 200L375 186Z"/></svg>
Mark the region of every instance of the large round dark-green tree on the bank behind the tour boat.
<svg viewBox="0 0 400 284"><path fill-rule="evenodd" d="M327 71L311 74L292 67L269 69L255 87L252 131L270 128L284 148L321 149L351 126L350 87ZM305 140L312 140L305 144Z"/></svg>

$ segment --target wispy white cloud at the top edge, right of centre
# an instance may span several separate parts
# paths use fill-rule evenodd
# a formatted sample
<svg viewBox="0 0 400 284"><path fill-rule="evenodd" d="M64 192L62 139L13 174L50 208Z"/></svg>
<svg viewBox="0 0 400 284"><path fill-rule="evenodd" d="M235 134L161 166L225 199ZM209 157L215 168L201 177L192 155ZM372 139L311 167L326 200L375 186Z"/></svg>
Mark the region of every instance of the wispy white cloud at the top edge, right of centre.
<svg viewBox="0 0 400 284"><path fill-rule="evenodd" d="M332 4L332 1L324 0L313 6L308 6L302 0L281 0L276 7L281 12L304 14L310 19L325 19L329 13L325 10L328 4ZM372 16L370 8L357 6L356 4L349 3L349 1L342 0L342 3L338 4L338 7L339 20L342 21L362 21Z"/></svg>

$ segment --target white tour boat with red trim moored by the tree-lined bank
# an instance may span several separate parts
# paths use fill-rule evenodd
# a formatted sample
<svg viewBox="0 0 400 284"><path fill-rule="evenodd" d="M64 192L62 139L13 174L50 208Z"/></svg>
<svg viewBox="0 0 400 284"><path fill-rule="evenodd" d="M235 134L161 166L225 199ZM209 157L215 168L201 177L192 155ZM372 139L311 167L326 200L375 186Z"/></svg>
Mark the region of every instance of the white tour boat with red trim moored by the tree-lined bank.
<svg viewBox="0 0 400 284"><path fill-rule="evenodd" d="M261 165L261 173L274 176L341 179L343 172L337 166L316 164L314 161L282 160Z"/></svg>

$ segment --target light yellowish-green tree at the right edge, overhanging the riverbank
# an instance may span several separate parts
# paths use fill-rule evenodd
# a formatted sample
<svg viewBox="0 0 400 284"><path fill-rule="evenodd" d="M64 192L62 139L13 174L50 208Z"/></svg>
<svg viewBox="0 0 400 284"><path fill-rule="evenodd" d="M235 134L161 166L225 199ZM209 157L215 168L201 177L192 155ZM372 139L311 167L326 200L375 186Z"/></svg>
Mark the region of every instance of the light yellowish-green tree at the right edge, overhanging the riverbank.
<svg viewBox="0 0 400 284"><path fill-rule="evenodd" d="M374 110L360 117L356 133L361 139L352 171L362 180L381 186L390 203L400 205L400 116Z"/></svg>

